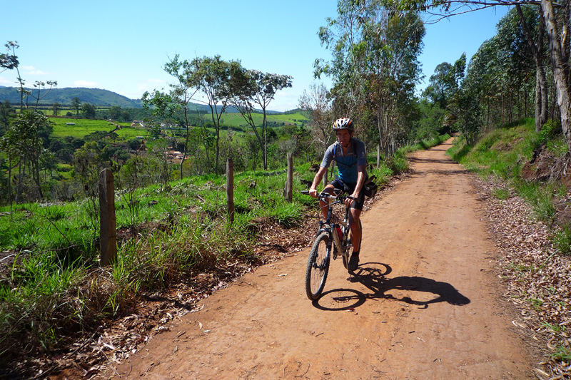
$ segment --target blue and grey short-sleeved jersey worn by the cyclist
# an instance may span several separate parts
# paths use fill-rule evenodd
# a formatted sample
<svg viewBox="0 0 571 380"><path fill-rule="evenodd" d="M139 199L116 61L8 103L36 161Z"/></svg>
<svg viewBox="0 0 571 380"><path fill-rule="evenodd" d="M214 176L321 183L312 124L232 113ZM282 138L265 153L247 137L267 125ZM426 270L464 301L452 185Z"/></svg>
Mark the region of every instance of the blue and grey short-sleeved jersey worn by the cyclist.
<svg viewBox="0 0 571 380"><path fill-rule="evenodd" d="M333 161L333 151L335 151L335 161L339 169L339 179L344 183L357 183L358 166L367 165L367 154L363 141L352 138L347 155L343 155L343 148L339 143L329 145L329 148L325 150L325 155L323 155L323 161L321 161L323 168L328 168Z"/></svg>

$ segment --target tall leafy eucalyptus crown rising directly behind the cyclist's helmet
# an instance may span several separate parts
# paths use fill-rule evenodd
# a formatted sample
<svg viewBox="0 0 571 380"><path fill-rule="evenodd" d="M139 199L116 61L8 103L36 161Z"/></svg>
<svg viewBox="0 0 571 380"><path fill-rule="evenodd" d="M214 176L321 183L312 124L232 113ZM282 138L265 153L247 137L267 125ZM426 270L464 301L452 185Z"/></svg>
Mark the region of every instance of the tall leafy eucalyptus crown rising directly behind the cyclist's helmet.
<svg viewBox="0 0 571 380"><path fill-rule="evenodd" d="M363 121L373 115L385 149L408 128L403 120L420 80L424 34L418 14L386 9L378 0L338 1L338 18L319 31L333 57L315 61L315 76L333 79L334 108Z"/></svg>

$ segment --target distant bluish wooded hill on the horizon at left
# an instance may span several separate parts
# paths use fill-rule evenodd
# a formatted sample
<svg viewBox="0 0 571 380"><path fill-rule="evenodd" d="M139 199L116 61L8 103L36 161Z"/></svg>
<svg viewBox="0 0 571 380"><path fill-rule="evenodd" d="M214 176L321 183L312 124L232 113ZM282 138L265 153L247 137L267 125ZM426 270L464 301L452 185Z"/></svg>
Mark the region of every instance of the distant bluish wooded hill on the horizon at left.
<svg viewBox="0 0 571 380"><path fill-rule="evenodd" d="M26 88L26 90L34 93L34 88ZM36 90L37 91L37 90ZM42 90L45 93L46 90ZM36 92L37 93L37 92ZM34 94L36 94L34 93ZM45 98L42 98L40 104L42 106L51 106L54 103L59 103L60 106L69 106L71 99L78 97L81 103L91 103L100 107L120 106L121 108L141 108L143 103L141 99L129 99L126 96L119 95L113 91L101 90L100 88L84 88L84 87L66 87L66 88L52 88ZM0 102L9 101L12 104L20 103L20 93L16 87L0 86ZM35 103L34 98L29 98L29 104ZM210 107L199 104L190 103L188 108L191 110L202 111L209 113ZM258 110L259 111L259 110ZM226 109L227 113L238 112L236 108L229 107ZM261 111L260 111L261 112ZM267 111L268 114L281 113L278 111ZM295 113L295 112L294 112Z"/></svg>

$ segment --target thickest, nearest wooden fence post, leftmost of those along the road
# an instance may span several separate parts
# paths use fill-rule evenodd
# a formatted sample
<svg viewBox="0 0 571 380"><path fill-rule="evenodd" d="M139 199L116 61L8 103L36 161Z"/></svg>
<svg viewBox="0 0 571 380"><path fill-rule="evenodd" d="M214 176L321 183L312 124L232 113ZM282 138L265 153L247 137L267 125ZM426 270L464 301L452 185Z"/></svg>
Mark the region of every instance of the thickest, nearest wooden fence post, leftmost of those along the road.
<svg viewBox="0 0 571 380"><path fill-rule="evenodd" d="M117 231L115 221L115 188L109 169L99 173L99 250L101 266L117 262Z"/></svg>

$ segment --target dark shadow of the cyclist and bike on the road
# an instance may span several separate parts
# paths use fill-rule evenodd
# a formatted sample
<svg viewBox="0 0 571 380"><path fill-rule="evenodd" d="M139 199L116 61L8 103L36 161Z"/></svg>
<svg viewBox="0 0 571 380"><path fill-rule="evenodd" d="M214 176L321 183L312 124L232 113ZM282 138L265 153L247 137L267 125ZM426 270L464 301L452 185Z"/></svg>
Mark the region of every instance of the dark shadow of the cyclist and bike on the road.
<svg viewBox="0 0 571 380"><path fill-rule="evenodd" d="M456 306L464 306L470 303L468 297L458 292L448 282L435 281L434 279L419 276L385 277L392 270L390 265L387 264L364 262L348 280L350 282L360 282L370 292L365 293L356 289L345 288L331 289L328 292L323 292L322 297L314 301L313 305L323 310L348 310L359 307L367 299L393 299L406 302L407 304L418 305L420 309L426 309L430 304L438 302L448 302ZM434 297L427 300L428 297L426 295L418 294L418 292L434 294ZM415 296L417 299L413 299Z"/></svg>

